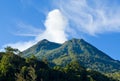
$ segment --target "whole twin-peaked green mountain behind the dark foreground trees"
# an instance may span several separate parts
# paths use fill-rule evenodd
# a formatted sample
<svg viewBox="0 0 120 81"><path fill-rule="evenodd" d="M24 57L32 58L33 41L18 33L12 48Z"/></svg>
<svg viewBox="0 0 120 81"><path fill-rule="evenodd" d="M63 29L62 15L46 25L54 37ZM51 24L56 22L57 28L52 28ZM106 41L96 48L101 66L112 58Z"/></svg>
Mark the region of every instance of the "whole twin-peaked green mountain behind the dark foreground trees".
<svg viewBox="0 0 120 81"><path fill-rule="evenodd" d="M46 58L55 65L65 66L78 61L88 69L99 72L115 72L120 70L120 62L112 59L83 39L71 39L63 44L49 42L44 39L23 51L22 57L35 55L39 60Z"/></svg>

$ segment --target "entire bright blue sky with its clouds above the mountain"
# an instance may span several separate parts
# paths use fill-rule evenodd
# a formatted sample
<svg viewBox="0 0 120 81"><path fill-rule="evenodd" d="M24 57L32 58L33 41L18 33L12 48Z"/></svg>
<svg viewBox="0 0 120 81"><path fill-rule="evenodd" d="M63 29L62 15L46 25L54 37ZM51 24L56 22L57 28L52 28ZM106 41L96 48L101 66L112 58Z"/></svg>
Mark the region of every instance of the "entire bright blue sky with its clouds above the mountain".
<svg viewBox="0 0 120 81"><path fill-rule="evenodd" d="M0 49L83 38L120 60L120 0L0 0Z"/></svg>

